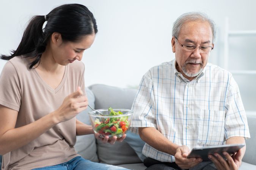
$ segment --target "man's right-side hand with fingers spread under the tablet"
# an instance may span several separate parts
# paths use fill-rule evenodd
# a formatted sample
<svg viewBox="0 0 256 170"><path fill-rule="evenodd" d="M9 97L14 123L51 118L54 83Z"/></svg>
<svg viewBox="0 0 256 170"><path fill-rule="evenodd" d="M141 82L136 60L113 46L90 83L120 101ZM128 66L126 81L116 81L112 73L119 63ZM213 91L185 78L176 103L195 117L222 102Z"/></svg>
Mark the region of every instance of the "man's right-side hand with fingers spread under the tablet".
<svg viewBox="0 0 256 170"><path fill-rule="evenodd" d="M230 156L227 152L223 152L227 160L223 159L219 154L209 155L209 159L214 162L218 170L238 170L242 164L242 149L238 150L234 155Z"/></svg>

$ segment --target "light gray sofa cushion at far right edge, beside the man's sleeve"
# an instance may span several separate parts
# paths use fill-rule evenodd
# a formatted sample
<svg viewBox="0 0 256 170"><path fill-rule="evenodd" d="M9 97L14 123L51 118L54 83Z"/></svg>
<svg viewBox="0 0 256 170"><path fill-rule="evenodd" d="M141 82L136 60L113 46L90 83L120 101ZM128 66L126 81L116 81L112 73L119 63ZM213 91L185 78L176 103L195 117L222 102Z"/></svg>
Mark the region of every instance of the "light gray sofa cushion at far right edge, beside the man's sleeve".
<svg viewBox="0 0 256 170"><path fill-rule="evenodd" d="M246 151L243 156L243 162L247 162L249 164L256 165L256 115L247 116L248 126L250 130L251 138L245 140L246 143Z"/></svg>

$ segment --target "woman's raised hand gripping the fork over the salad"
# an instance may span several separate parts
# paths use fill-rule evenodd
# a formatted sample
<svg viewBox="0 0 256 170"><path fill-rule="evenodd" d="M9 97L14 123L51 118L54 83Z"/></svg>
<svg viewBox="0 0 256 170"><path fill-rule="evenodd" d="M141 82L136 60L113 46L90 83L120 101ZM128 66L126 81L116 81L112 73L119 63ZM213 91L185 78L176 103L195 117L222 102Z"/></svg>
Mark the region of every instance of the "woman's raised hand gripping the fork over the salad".
<svg viewBox="0 0 256 170"><path fill-rule="evenodd" d="M57 122L68 121L87 108L88 99L82 95L83 91L78 87L77 91L65 97L62 105L53 112Z"/></svg>

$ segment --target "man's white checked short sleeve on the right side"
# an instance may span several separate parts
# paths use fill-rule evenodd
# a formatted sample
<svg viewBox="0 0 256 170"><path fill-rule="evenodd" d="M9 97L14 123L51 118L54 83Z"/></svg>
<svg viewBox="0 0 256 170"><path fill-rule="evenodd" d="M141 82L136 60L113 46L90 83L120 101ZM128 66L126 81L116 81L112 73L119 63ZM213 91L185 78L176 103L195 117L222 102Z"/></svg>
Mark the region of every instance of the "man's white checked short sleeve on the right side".
<svg viewBox="0 0 256 170"><path fill-rule="evenodd" d="M225 108L227 110L225 117L225 140L234 136L240 136L246 139L250 138L240 91L232 76L229 82Z"/></svg>

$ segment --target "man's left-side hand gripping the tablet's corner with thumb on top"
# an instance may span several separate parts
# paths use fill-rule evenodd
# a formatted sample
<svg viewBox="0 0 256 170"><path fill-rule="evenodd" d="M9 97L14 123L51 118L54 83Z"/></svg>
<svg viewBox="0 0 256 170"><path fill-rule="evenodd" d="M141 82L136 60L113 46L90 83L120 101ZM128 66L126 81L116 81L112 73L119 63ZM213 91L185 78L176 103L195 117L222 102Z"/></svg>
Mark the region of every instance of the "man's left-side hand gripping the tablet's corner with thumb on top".
<svg viewBox="0 0 256 170"><path fill-rule="evenodd" d="M192 168L203 161L201 158L187 158L189 151L190 150L187 146L182 145L177 148L174 155L176 164L182 169Z"/></svg>

